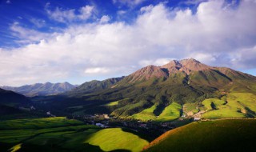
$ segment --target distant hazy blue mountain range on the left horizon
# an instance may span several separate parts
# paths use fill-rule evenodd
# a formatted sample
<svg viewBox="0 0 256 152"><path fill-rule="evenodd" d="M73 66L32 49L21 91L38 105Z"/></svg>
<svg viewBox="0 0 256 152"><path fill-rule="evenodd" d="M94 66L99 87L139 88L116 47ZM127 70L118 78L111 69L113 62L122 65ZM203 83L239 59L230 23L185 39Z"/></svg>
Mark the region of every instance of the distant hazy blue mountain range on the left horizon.
<svg viewBox="0 0 256 152"><path fill-rule="evenodd" d="M36 83L34 85L26 85L26 86L19 86L19 87L1 86L1 88L4 90L12 90L18 94L23 94L28 97L60 94L62 92L71 90L74 87L76 86L71 85L69 82L63 82L63 83L46 82L46 83Z"/></svg>

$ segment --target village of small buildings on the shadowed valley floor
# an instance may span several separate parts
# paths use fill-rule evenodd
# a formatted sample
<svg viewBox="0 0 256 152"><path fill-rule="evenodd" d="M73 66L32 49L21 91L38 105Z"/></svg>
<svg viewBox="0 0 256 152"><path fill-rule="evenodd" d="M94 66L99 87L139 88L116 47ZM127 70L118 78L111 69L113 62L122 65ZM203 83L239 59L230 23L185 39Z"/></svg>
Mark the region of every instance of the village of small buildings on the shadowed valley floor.
<svg viewBox="0 0 256 152"><path fill-rule="evenodd" d="M85 122L87 125L95 125L102 128L114 128L121 127L123 129L133 130L143 134L150 134L152 138L158 137L160 134L165 133L168 130L172 130L178 126L190 123L194 121L194 118L189 119L178 119L173 122L142 122L134 119L123 119L111 117L109 114L94 114L94 115L76 115L67 118L77 119Z"/></svg>

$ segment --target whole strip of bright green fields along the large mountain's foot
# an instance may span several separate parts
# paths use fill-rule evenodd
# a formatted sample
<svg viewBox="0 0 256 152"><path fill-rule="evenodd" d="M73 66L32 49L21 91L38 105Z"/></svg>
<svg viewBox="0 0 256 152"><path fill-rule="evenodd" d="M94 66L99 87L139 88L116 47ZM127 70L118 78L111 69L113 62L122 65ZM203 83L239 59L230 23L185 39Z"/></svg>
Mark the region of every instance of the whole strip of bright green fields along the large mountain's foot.
<svg viewBox="0 0 256 152"><path fill-rule="evenodd" d="M252 93L229 93L222 98L207 98L202 103L185 103L182 106L172 102L166 106L158 116L154 114L157 104L133 114L128 118L142 121L169 122L179 118L182 112L187 117L202 111L202 118L255 118L256 117L256 95ZM183 110L183 111L181 111Z"/></svg>

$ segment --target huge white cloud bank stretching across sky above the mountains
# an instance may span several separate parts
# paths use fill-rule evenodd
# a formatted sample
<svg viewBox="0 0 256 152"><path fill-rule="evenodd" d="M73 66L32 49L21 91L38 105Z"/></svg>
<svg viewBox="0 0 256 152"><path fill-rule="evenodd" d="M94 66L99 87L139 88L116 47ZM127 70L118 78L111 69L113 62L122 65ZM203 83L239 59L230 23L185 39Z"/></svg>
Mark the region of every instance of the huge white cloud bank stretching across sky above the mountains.
<svg viewBox="0 0 256 152"><path fill-rule="evenodd" d="M210 1L200 3L192 13L161 3L142 8L132 24L72 25L38 44L0 50L0 86L74 76L83 81L99 75L109 78L182 58L250 69L256 66L255 7L256 2L250 0L236 8L224 1Z"/></svg>

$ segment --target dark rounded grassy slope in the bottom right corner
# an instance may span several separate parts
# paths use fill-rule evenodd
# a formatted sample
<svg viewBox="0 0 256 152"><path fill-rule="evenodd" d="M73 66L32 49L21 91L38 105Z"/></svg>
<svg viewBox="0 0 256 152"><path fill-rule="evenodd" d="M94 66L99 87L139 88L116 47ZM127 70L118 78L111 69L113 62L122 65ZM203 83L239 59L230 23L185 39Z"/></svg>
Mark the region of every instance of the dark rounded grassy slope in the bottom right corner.
<svg viewBox="0 0 256 152"><path fill-rule="evenodd" d="M144 151L254 151L255 119L193 122L156 138Z"/></svg>

